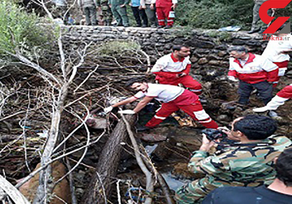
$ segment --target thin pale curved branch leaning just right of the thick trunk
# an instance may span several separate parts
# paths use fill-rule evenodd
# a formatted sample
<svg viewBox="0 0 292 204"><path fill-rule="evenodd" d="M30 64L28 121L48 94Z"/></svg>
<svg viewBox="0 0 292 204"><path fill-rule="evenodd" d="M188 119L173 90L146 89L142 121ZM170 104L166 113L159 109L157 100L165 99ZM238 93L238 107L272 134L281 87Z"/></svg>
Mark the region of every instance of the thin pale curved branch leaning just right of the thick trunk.
<svg viewBox="0 0 292 204"><path fill-rule="evenodd" d="M152 173L150 173L150 171L145 166L143 160L141 159L139 147L138 147L138 144L137 144L137 142L135 140L134 134L131 131L130 124L128 123L128 121L126 120L126 118L125 118L125 116L123 114L121 114L121 117L122 117L124 123L126 124L126 129L128 131L129 137L130 137L131 142L133 144L137 163L138 163L138 165L140 166L141 170L143 171L143 173L146 176L146 190L148 192L152 193L154 191L154 186L153 186L153 181L152 181ZM147 197L146 200L145 200L145 204L151 204L151 203L152 203L152 198L151 197Z"/></svg>

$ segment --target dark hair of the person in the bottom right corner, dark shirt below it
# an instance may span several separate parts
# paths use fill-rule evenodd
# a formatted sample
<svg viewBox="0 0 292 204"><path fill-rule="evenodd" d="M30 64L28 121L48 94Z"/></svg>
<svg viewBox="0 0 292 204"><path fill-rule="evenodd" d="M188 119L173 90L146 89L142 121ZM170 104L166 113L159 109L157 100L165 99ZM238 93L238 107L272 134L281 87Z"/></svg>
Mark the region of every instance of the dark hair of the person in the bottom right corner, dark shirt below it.
<svg viewBox="0 0 292 204"><path fill-rule="evenodd" d="M292 187L292 147L282 152L276 161L276 178Z"/></svg>

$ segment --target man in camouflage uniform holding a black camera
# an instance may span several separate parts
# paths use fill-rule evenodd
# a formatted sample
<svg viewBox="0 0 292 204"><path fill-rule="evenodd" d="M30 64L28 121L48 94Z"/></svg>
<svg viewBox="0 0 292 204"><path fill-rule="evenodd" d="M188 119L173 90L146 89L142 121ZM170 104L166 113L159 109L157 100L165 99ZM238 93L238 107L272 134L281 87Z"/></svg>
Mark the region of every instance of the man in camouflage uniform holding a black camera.
<svg viewBox="0 0 292 204"><path fill-rule="evenodd" d="M218 187L272 183L276 175L274 158L292 144L285 136L272 136L276 130L277 123L269 117L239 117L232 122L231 131L223 130L230 142L220 143L220 150L212 155L208 151L215 142L203 135L202 145L193 152L188 170L206 176L180 187L175 193L177 203L200 203Z"/></svg>

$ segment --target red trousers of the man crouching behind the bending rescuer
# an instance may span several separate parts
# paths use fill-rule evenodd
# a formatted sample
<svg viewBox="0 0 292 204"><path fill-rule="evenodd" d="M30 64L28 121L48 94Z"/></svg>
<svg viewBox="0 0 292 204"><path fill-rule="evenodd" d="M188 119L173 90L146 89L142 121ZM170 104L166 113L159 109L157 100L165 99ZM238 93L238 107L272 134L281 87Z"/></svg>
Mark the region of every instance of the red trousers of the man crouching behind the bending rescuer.
<svg viewBox="0 0 292 204"><path fill-rule="evenodd" d="M156 79L158 80L159 84L169 84L174 86L182 84L184 87L189 88L191 92L194 92L197 95L200 95L202 93L201 84L194 80L190 75L171 79L156 77Z"/></svg>

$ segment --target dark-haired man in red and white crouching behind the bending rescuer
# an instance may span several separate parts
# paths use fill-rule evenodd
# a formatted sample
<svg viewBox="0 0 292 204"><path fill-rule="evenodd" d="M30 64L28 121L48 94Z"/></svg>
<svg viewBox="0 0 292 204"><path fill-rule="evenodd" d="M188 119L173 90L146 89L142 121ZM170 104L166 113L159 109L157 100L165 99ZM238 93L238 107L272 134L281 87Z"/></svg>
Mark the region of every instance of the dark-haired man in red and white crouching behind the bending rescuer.
<svg viewBox="0 0 292 204"><path fill-rule="evenodd" d="M164 55L157 60L151 72L156 75L159 84L177 86L182 84L195 94L201 94L202 87L190 75L190 48L185 45L174 45L171 54Z"/></svg>

